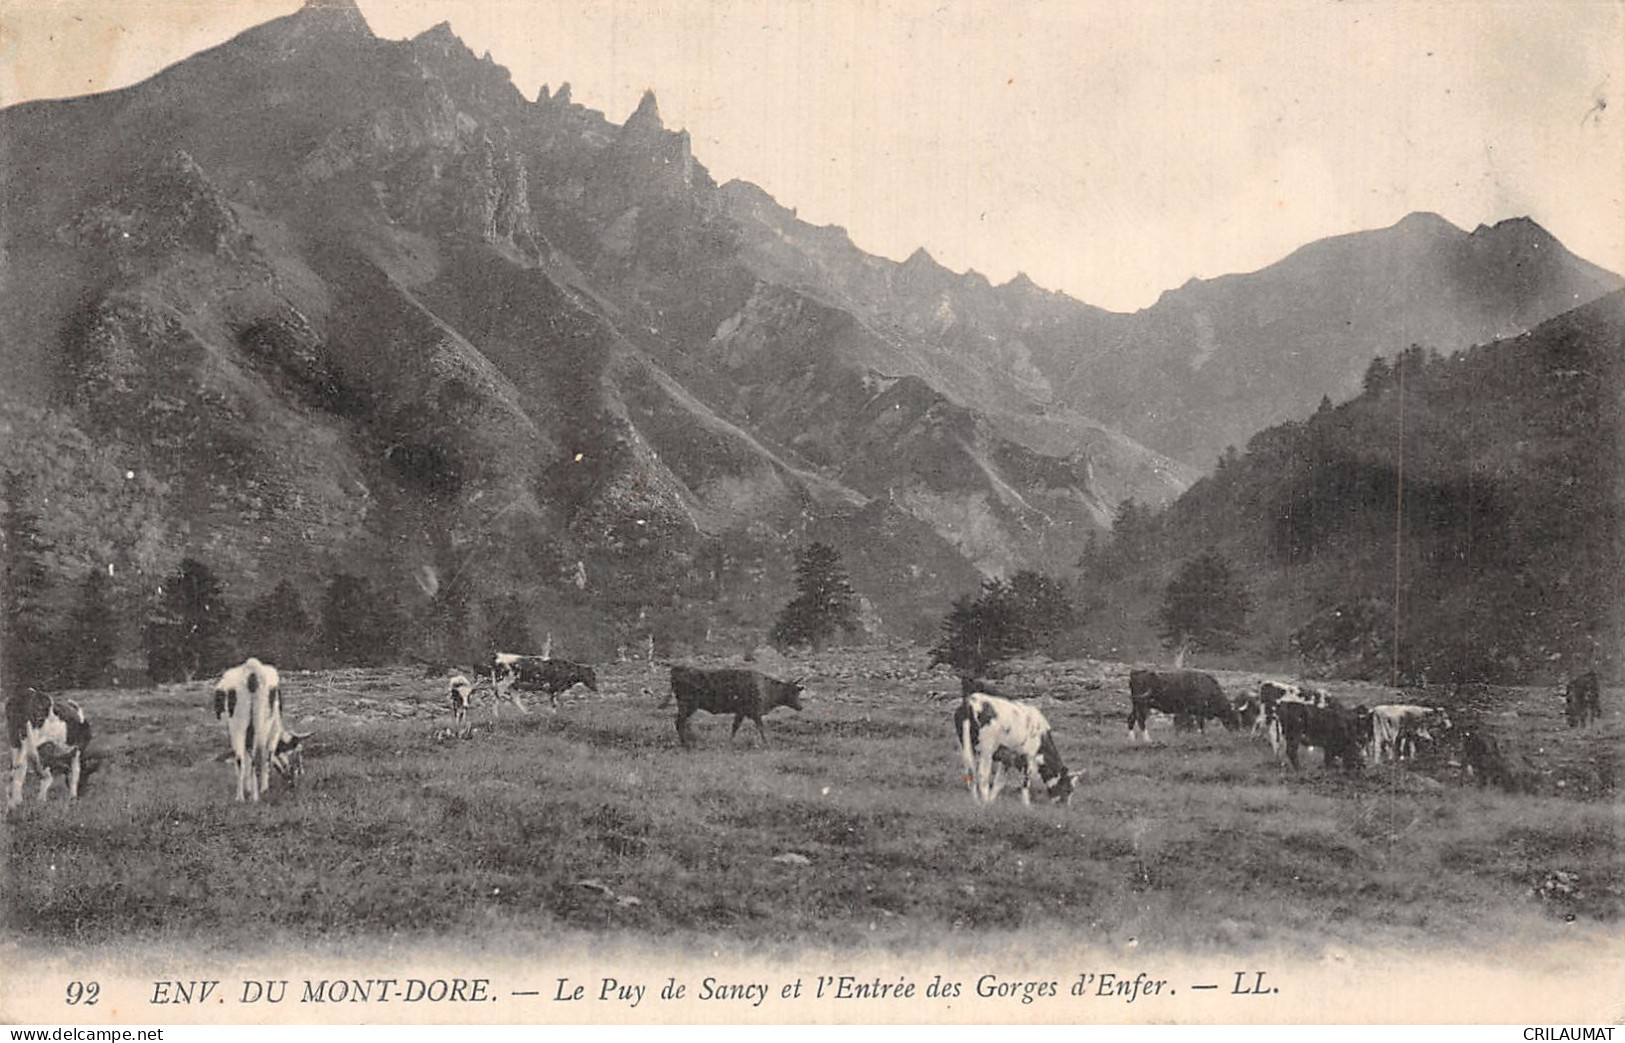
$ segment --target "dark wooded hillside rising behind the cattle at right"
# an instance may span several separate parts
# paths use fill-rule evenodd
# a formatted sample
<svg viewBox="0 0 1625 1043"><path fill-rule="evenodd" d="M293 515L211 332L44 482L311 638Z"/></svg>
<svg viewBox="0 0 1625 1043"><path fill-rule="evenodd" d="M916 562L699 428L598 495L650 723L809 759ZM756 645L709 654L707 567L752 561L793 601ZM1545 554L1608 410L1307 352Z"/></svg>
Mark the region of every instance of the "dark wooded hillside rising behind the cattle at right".
<svg viewBox="0 0 1625 1043"><path fill-rule="evenodd" d="M1417 349L1355 400L1250 439L1092 560L1144 642L1216 549L1251 643L1388 681L1552 681L1625 663L1625 291L1466 353ZM1398 598L1398 621L1396 621ZM1138 634L1134 632L1138 629Z"/></svg>

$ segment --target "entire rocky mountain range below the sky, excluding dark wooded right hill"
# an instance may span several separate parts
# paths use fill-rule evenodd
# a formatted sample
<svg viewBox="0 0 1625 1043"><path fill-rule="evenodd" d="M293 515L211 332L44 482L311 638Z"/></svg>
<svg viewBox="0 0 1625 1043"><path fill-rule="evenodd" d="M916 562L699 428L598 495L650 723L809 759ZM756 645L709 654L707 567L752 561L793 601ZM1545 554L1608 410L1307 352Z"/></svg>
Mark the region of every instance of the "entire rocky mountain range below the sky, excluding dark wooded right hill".
<svg viewBox="0 0 1625 1043"><path fill-rule="evenodd" d="M1372 356L1620 284L1529 221L1417 214L1112 314L863 253L717 185L652 93L619 125L525 97L348 0L0 110L0 148L8 468L130 608L192 554L240 598L346 570L414 619L759 635L824 539L920 637Z"/></svg>

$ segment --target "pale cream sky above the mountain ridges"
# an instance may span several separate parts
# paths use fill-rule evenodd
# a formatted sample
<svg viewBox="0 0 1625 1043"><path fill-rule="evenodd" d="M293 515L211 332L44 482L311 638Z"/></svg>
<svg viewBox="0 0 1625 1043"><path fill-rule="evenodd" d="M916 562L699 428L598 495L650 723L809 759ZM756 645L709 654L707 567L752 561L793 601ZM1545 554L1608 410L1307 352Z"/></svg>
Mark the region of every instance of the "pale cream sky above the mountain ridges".
<svg viewBox="0 0 1625 1043"><path fill-rule="evenodd" d="M0 0L0 104L124 86L297 0ZM1432 210L1625 271L1625 2L361 0L533 97L645 88L718 182L864 250L1116 310Z"/></svg>

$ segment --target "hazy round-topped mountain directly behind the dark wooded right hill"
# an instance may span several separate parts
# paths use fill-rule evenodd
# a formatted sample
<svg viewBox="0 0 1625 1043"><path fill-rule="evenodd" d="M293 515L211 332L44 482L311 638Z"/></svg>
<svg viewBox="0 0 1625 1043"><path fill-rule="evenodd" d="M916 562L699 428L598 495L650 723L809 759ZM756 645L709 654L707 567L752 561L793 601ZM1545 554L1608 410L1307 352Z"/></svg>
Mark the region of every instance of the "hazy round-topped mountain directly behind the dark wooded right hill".
<svg viewBox="0 0 1625 1043"><path fill-rule="evenodd" d="M1526 218L1464 232L1410 214L1261 271L1193 279L1035 364L1074 408L1209 466L1323 395L1355 395L1375 356L1513 336L1620 286Z"/></svg>

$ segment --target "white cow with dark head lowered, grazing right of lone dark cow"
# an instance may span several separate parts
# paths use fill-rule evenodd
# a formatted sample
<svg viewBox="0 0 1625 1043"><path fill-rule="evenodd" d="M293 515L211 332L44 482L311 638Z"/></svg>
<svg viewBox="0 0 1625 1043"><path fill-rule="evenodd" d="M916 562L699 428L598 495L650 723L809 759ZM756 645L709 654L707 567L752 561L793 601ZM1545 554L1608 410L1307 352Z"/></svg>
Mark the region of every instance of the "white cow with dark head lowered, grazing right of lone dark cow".
<svg viewBox="0 0 1625 1043"><path fill-rule="evenodd" d="M1072 799L1077 777L1068 773L1055 746L1050 721L1035 707L986 692L973 692L954 710L954 736L965 765L965 783L980 804L991 804L1004 788L1004 770L1022 773L1020 803L1030 804L1032 770L1038 768L1050 799Z"/></svg>

